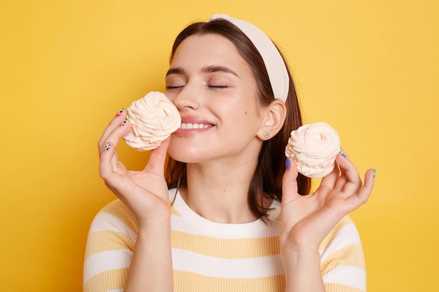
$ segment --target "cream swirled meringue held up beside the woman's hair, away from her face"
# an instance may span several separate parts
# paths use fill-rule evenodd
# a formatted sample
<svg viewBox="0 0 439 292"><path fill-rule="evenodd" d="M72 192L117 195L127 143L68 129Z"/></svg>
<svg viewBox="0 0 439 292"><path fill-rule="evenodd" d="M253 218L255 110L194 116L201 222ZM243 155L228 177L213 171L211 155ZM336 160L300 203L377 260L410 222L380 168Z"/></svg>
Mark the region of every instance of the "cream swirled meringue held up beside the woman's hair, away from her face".
<svg viewBox="0 0 439 292"><path fill-rule="evenodd" d="M326 176L340 153L340 138L327 123L303 125L291 132L285 155L295 160L297 171L313 179Z"/></svg>

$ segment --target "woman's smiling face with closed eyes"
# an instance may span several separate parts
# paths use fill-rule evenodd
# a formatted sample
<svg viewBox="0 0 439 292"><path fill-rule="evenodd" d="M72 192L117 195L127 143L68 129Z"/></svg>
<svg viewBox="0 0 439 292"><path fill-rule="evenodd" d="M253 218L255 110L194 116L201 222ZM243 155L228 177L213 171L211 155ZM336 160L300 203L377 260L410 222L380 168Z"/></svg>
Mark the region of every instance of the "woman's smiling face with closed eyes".
<svg viewBox="0 0 439 292"><path fill-rule="evenodd" d="M217 34L185 39L170 64L165 94L182 116L168 148L175 160L257 158L263 122L255 79L231 41Z"/></svg>

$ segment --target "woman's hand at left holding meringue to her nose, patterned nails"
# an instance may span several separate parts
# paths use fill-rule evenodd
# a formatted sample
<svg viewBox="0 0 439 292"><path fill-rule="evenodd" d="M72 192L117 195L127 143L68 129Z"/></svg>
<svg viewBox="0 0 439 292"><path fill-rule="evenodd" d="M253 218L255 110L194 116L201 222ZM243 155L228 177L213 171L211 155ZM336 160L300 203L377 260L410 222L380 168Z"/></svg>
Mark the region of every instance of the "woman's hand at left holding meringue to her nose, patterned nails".
<svg viewBox="0 0 439 292"><path fill-rule="evenodd" d="M130 130L126 112L119 111L97 144L100 176L134 214L140 228L150 223L169 222L168 185L163 168L170 138L151 151L147 166L142 171L128 171L119 161L116 146Z"/></svg>

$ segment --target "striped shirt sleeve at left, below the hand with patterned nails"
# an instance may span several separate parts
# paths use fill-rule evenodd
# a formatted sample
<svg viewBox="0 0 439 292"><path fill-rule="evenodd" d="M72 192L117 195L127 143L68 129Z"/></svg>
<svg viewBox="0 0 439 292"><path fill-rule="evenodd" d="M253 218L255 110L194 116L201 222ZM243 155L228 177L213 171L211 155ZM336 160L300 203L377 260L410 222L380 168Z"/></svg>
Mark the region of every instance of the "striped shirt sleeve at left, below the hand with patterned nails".
<svg viewBox="0 0 439 292"><path fill-rule="evenodd" d="M123 291L137 232L135 217L119 200L95 216L86 244L83 292Z"/></svg>

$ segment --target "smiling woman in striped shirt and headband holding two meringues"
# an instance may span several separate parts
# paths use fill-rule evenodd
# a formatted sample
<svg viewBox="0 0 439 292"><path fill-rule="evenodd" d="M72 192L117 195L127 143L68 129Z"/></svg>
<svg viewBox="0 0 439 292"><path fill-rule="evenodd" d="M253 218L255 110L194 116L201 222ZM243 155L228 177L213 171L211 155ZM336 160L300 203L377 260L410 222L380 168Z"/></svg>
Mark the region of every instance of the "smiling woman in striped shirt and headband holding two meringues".
<svg viewBox="0 0 439 292"><path fill-rule="evenodd" d="M189 25L175 40L165 93L182 127L142 172L117 158L130 131L125 112L98 143L100 174L119 200L90 228L84 291L365 291L346 214L366 202L374 171L362 186L337 155L304 195L309 179L284 155L302 125L299 103L263 32L227 15Z"/></svg>

